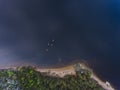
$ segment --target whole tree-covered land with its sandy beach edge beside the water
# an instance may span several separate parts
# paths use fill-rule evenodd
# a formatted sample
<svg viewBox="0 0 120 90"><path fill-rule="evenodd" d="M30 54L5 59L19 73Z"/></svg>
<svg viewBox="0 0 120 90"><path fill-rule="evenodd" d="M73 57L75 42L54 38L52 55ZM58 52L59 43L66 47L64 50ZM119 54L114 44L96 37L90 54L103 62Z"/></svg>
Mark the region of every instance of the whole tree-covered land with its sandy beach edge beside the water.
<svg viewBox="0 0 120 90"><path fill-rule="evenodd" d="M115 90L83 63L60 68L35 66L0 70L0 90Z"/></svg>

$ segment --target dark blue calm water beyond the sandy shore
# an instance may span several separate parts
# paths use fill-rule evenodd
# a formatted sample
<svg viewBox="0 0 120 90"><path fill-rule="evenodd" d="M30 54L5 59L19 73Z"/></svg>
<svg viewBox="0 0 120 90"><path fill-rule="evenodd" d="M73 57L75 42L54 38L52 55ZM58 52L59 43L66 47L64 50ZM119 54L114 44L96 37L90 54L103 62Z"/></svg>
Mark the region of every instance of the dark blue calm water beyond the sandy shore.
<svg viewBox="0 0 120 90"><path fill-rule="evenodd" d="M0 0L0 66L85 59L120 88L120 1ZM118 89L119 90L119 89Z"/></svg>

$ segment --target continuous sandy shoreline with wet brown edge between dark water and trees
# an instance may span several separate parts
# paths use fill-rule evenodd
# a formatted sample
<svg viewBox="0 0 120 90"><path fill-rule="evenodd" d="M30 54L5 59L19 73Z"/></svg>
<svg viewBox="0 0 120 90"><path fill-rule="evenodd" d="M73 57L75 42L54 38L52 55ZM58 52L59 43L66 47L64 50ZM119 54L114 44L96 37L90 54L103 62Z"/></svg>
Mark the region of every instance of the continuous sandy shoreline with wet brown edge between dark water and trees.
<svg viewBox="0 0 120 90"><path fill-rule="evenodd" d="M41 67L41 66L38 66L38 65L34 65L34 64L28 64L28 63L24 63L23 65L15 65L15 66L8 66L8 67L3 67L0 69L13 69L13 70L18 70L18 68L21 68L21 67L27 67L27 66L32 66L33 68L35 68L36 71L38 72L41 72L41 73L48 73L49 72L49 76L52 76L52 77L60 77L60 78L63 78L65 75L76 75L76 69L74 67L75 64L79 64L81 68L84 68L84 69L87 69L87 70L90 70L92 71L92 75L91 75L91 78L94 79L95 81L97 81L97 83L102 86L105 90L115 90L113 88L112 85L110 85L109 82L104 82L103 80L101 80L94 72L91 68L89 68L89 65L86 63L84 63L84 61L79 61L79 62L72 62L72 63L69 63L67 65L62 65L62 66L52 66L52 67Z"/></svg>

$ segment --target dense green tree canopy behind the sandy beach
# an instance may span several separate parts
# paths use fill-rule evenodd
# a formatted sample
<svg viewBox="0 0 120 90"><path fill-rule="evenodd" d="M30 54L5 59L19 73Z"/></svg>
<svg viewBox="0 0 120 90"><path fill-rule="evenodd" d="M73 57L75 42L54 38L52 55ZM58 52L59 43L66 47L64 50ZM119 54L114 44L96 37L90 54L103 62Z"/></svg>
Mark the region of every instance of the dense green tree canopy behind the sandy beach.
<svg viewBox="0 0 120 90"><path fill-rule="evenodd" d="M104 90L90 76L90 71L82 69L64 78L46 76L30 66L1 70L0 90Z"/></svg>

